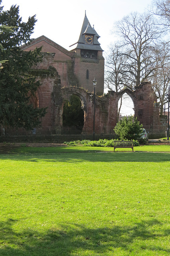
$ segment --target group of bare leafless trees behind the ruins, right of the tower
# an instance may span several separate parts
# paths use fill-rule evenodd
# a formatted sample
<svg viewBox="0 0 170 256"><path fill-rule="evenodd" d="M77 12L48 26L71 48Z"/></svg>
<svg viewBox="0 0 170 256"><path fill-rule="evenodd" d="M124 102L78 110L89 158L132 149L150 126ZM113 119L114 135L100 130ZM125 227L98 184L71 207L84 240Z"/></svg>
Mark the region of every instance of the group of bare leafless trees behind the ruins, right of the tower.
<svg viewBox="0 0 170 256"><path fill-rule="evenodd" d="M155 1L157 4L164 2L170 7L170 0ZM140 82L151 80L162 114L164 96L170 82L170 44L163 42L164 29L153 16L149 13L131 13L115 24L114 30L122 40L111 47L106 59L106 83L109 89L114 84L118 91L122 86L133 89ZM166 10L168 17L170 15Z"/></svg>

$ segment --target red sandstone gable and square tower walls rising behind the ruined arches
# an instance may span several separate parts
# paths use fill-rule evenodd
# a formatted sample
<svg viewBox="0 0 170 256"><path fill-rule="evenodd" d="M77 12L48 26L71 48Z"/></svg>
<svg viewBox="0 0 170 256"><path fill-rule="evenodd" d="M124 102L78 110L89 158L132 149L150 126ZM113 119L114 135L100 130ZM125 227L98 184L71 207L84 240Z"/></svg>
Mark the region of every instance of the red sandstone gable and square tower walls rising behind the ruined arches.
<svg viewBox="0 0 170 256"><path fill-rule="evenodd" d="M98 52L97 60L82 59L80 56L80 50L76 50L76 53L69 52L62 46L59 46L55 42L49 40L45 36L35 39L31 44L27 46L21 46L21 49L25 51L34 50L36 47L42 46L42 52L55 53L53 63L61 79L61 87L70 86L68 82L68 65L67 62L74 60L74 74L78 79L78 86L82 87L89 92L93 92L94 87L92 81L94 77L97 80L96 93L102 95L104 93L104 57L102 51ZM74 55L74 58L72 58ZM39 64L39 68L48 69L49 66L45 66L44 62L42 65ZM86 78L86 70L89 70L89 78Z"/></svg>

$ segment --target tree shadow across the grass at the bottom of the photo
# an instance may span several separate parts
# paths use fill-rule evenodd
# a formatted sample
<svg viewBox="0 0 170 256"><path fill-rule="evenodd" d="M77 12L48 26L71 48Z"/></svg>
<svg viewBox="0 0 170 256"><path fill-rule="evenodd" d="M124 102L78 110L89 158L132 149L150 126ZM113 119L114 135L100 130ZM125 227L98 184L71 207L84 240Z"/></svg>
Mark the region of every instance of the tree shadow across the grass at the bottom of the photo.
<svg viewBox="0 0 170 256"><path fill-rule="evenodd" d="M106 255L116 248L119 248L120 255L123 255L122 252L130 255L133 250L164 252L164 255L170 252L158 244L157 238L168 240L168 230L160 232L162 224L156 219L141 221L134 226L113 225L113 228L85 228L64 224L60 228L47 230L45 234L35 230L15 232L13 225L16 221L9 219L0 222L1 256Z"/></svg>

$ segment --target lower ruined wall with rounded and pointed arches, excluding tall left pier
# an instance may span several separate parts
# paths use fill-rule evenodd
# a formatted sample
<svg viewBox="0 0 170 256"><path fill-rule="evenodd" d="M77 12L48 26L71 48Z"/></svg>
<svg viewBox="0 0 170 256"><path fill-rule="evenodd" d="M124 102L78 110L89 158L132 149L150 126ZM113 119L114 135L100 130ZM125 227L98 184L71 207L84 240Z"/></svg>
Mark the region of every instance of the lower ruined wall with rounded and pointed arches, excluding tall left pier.
<svg viewBox="0 0 170 256"><path fill-rule="evenodd" d="M97 86L96 86L97 87ZM81 88L64 88L64 94L76 94L82 101L84 109L84 125L93 125L93 96ZM96 126L115 126L117 123L117 106L120 97L127 93L133 100L135 117L143 125L160 124L159 108L156 107L156 94L152 90L151 84L141 83L136 90L131 91L124 88L120 92L109 91L106 95L96 95L95 124Z"/></svg>

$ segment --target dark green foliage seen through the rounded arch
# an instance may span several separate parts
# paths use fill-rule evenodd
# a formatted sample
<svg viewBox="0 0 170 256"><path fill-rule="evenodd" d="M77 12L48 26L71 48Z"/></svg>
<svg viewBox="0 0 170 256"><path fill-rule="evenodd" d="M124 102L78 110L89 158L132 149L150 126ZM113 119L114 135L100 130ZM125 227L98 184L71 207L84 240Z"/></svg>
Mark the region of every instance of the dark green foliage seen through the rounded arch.
<svg viewBox="0 0 170 256"><path fill-rule="evenodd" d="M71 95L70 100L65 100L63 106L63 126L83 126L84 111L80 98Z"/></svg>

